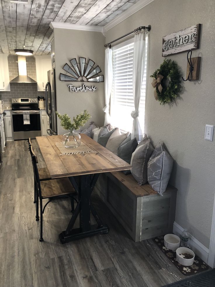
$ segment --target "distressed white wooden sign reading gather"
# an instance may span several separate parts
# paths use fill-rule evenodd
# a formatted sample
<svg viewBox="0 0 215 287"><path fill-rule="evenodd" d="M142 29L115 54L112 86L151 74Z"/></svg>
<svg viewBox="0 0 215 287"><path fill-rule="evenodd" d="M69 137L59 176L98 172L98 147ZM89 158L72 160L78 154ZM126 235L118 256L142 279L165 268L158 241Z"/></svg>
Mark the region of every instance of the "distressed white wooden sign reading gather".
<svg viewBox="0 0 215 287"><path fill-rule="evenodd" d="M162 56L199 49L201 24L188 27L163 37Z"/></svg>

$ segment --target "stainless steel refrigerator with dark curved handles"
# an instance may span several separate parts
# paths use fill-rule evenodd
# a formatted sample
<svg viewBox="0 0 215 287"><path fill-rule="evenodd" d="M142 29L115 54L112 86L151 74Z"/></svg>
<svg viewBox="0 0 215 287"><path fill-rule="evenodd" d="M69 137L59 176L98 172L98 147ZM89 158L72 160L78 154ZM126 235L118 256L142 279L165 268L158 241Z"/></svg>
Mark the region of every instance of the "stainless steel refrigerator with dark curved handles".
<svg viewBox="0 0 215 287"><path fill-rule="evenodd" d="M56 115L56 84L55 69L48 71L48 82L46 84L46 113L49 116L48 135L57 135L57 115Z"/></svg>

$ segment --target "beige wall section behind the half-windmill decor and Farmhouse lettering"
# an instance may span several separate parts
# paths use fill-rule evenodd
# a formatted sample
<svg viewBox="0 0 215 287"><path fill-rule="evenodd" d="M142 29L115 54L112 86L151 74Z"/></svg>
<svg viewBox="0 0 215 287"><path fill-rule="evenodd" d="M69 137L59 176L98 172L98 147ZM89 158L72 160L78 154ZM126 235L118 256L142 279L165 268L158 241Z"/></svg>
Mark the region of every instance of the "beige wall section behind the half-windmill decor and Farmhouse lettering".
<svg viewBox="0 0 215 287"><path fill-rule="evenodd" d="M105 106L104 83L84 83L87 86L96 86L95 92L72 92L70 93L68 85L73 84L76 87L82 86L83 82L64 82L60 81L60 73L65 73L63 66L70 64L70 60L79 57L85 57L95 62L94 66L100 66L101 73L104 75L105 58L104 44L105 37L101 32L88 32L68 29L54 29L55 42L55 61L56 61L56 90L57 90L57 109L61 114L68 114L73 117L87 109L92 115L90 121L95 121L99 126L103 126ZM58 120L58 133L64 130Z"/></svg>

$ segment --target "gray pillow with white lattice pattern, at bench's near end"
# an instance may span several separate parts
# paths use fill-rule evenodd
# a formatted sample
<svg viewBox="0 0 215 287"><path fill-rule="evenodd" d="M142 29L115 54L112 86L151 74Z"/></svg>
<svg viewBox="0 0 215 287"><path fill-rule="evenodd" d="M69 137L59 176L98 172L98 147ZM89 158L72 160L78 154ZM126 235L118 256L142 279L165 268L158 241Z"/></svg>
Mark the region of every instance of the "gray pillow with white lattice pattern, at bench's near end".
<svg viewBox="0 0 215 287"><path fill-rule="evenodd" d="M159 142L148 161L148 183L153 190L163 194L173 167L173 158Z"/></svg>

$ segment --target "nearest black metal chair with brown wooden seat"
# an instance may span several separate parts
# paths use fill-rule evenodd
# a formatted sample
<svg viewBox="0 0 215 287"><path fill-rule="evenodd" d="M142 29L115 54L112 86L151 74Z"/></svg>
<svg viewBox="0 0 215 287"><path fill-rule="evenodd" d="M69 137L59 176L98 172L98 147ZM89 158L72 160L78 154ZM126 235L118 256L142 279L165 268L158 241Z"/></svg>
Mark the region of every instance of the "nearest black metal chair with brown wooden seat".
<svg viewBox="0 0 215 287"><path fill-rule="evenodd" d="M36 221L39 220L39 202L40 202L40 239L43 241L43 213L49 202L59 197L70 197L72 212L74 211L74 198L76 194L72 183L69 178L57 178L51 180L40 180L39 172L37 168L37 156L34 153L32 145L30 146L30 152L32 156L32 164L34 169L34 188L36 192ZM42 200L49 198L48 202L43 207Z"/></svg>

